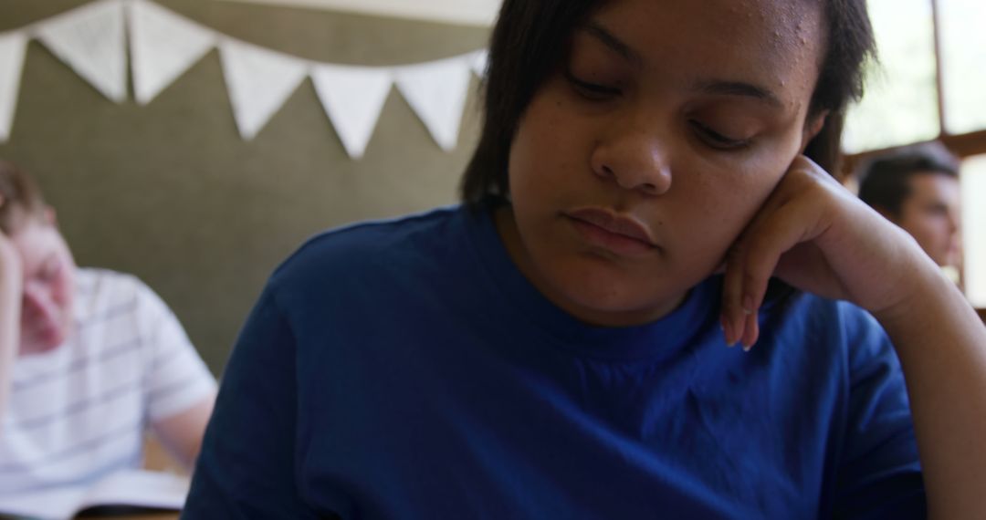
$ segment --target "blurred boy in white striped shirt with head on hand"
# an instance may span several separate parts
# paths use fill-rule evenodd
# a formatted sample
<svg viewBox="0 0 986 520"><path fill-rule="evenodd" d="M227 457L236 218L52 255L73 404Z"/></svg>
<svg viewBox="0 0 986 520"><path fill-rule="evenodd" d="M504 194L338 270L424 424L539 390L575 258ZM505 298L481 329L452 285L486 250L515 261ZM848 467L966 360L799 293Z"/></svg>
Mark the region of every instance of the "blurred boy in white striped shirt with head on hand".
<svg viewBox="0 0 986 520"><path fill-rule="evenodd" d="M164 301L77 267L35 182L0 161L0 510L141 467L149 427L190 468L215 392Z"/></svg>

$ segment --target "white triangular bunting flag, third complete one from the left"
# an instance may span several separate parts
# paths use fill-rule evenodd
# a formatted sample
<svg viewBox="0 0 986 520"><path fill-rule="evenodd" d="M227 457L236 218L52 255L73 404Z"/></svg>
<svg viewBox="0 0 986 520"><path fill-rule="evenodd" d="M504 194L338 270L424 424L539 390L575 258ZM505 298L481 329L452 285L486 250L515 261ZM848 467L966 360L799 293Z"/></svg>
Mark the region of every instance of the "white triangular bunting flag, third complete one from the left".
<svg viewBox="0 0 986 520"><path fill-rule="evenodd" d="M233 115L250 140L308 75L308 64L287 54L232 39L219 44Z"/></svg>

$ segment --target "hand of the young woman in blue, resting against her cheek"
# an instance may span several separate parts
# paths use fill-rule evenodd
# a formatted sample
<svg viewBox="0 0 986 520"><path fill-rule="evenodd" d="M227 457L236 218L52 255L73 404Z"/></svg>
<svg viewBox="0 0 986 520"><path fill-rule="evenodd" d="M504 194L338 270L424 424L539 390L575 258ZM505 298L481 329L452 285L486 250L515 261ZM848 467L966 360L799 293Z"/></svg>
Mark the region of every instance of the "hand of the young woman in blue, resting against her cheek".
<svg viewBox="0 0 986 520"><path fill-rule="evenodd" d="M730 345L759 335L757 309L776 276L800 290L897 315L920 297L934 262L810 159L792 162L726 260L722 321Z"/></svg>

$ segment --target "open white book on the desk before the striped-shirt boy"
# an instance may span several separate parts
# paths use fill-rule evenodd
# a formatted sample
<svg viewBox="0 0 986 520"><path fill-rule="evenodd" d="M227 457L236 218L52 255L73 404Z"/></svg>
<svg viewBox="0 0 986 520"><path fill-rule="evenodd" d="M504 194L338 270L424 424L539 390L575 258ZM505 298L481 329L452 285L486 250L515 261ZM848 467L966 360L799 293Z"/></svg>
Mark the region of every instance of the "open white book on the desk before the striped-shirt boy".
<svg viewBox="0 0 986 520"><path fill-rule="evenodd" d="M72 518L87 507L131 505L180 510L188 479L170 473L125 470L87 487L58 487L0 498L0 512L33 518Z"/></svg>

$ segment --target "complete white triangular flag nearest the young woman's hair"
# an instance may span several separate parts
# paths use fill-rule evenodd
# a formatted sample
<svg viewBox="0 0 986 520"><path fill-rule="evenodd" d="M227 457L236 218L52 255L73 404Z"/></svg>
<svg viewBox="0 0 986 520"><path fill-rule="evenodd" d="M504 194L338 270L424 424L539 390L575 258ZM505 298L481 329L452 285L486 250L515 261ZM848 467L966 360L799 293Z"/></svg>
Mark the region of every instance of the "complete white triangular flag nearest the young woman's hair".
<svg viewBox="0 0 986 520"><path fill-rule="evenodd" d="M469 56L396 69L400 94L446 152L456 149L469 87Z"/></svg>

